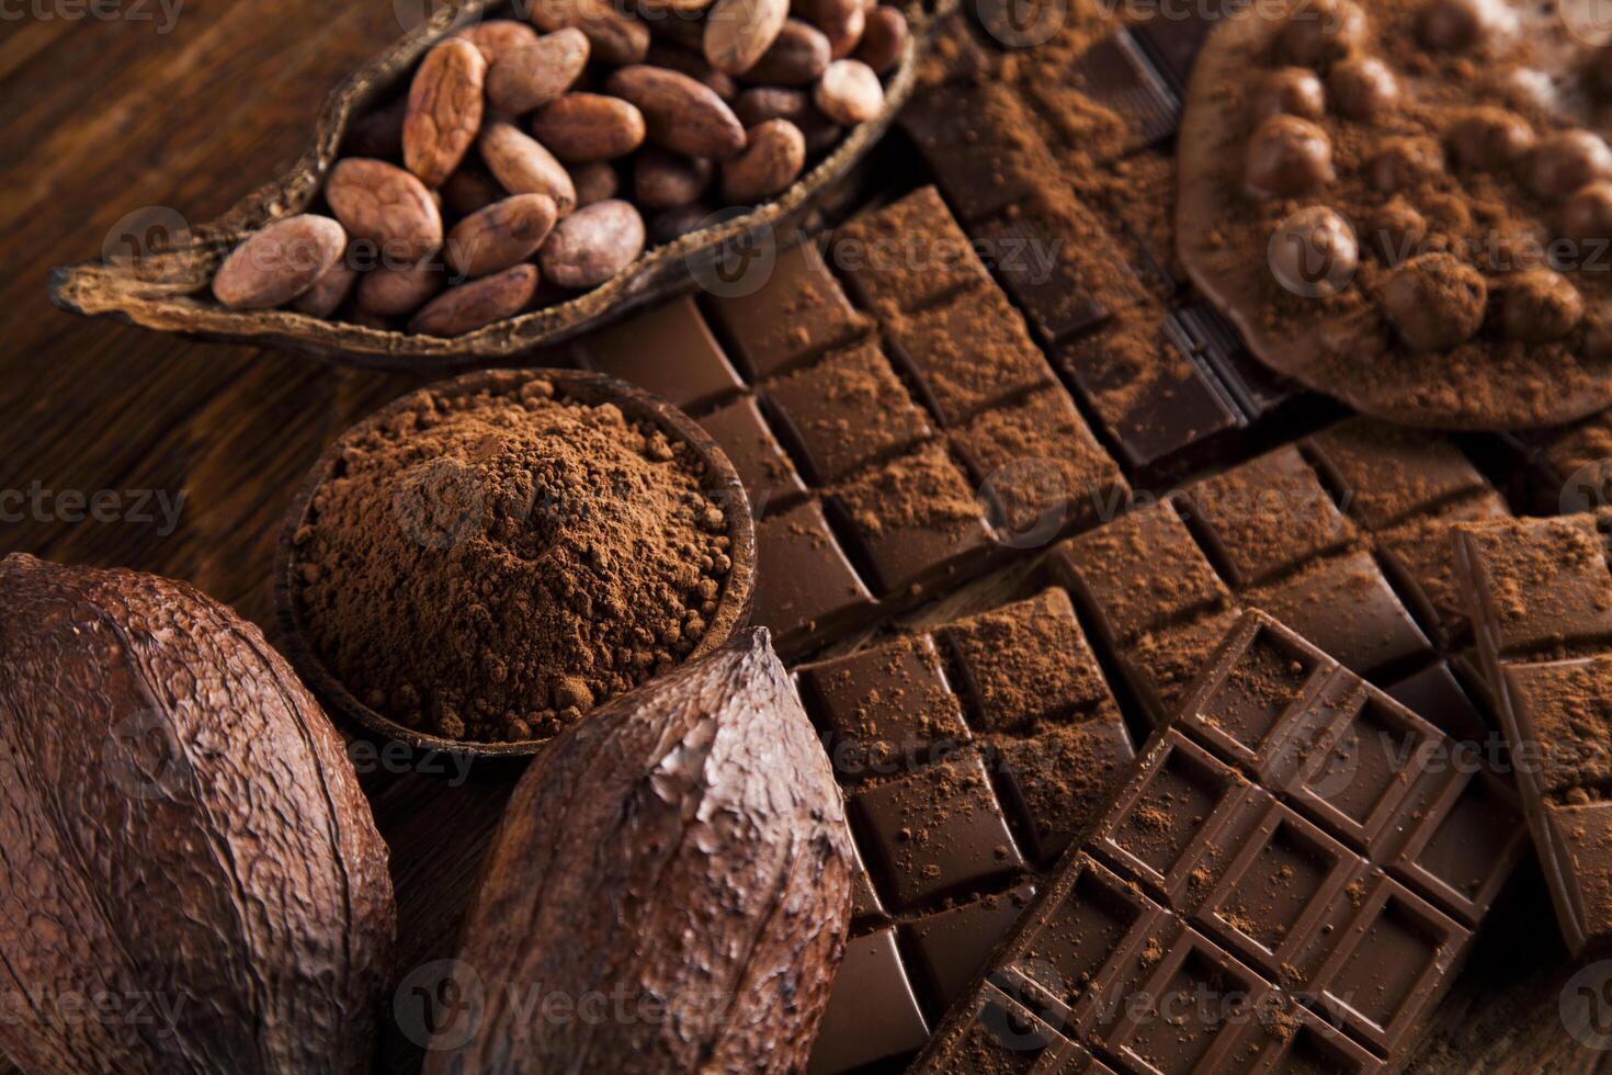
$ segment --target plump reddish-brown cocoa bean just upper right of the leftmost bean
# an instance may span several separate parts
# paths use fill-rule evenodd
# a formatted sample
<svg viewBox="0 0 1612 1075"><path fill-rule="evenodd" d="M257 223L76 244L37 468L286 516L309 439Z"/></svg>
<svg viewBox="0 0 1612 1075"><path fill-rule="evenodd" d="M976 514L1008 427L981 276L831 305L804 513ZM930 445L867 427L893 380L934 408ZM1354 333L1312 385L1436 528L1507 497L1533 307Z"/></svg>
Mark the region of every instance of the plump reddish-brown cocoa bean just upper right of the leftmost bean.
<svg viewBox="0 0 1612 1075"><path fill-rule="evenodd" d="M368 156L335 163L324 200L353 239L368 239L387 258L418 261L442 247L442 211L414 172Z"/></svg>

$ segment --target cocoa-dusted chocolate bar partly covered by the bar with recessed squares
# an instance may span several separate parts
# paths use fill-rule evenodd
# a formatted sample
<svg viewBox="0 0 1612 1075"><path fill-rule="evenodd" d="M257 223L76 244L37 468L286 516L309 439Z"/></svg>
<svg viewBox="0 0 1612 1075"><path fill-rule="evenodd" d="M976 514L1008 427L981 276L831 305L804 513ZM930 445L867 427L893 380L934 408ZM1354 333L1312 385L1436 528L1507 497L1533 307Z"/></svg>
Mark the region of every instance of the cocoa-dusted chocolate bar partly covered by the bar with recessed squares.
<svg viewBox="0 0 1612 1075"><path fill-rule="evenodd" d="M1483 740L1489 696L1451 532L1507 516L1452 440L1348 419L1070 538L1051 564L1156 722L1236 614L1259 608L1451 735Z"/></svg>

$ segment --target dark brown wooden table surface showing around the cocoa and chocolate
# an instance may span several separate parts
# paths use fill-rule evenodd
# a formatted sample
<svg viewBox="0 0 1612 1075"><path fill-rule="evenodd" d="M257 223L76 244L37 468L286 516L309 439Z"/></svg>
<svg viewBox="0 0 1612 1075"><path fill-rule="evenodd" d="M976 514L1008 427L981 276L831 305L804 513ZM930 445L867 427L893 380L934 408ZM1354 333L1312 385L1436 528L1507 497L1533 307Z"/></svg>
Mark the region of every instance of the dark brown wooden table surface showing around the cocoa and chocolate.
<svg viewBox="0 0 1612 1075"><path fill-rule="evenodd" d="M171 26L156 0L123 0L126 16L111 19L76 0L6 8L23 18L0 21L0 490L42 511L0 522L5 551L189 579L272 637L269 564L292 487L337 432L422 379L90 322L52 308L45 280L97 255L131 210L206 221L276 176L305 148L327 89L422 2L210 0L181 5ZM182 495L177 527L73 521L58 500L100 490L131 514L145 490ZM999 600L1019 579L948 611ZM393 849L403 972L451 953L513 775L459 787L366 775ZM1612 1070L1612 1054L1577 1043L1557 1014L1573 970L1530 864L1417 1069ZM414 1062L393 1035L384 1070Z"/></svg>

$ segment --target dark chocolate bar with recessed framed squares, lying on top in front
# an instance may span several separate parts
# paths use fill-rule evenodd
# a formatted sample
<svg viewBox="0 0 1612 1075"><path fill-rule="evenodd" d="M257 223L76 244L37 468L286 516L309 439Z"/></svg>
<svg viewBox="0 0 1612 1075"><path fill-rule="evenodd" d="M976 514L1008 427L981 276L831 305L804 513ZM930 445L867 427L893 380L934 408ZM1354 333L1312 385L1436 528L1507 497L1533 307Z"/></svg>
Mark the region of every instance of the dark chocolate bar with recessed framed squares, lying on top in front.
<svg viewBox="0 0 1612 1075"><path fill-rule="evenodd" d="M1527 846L1459 749L1241 617L914 1070L1396 1067Z"/></svg>

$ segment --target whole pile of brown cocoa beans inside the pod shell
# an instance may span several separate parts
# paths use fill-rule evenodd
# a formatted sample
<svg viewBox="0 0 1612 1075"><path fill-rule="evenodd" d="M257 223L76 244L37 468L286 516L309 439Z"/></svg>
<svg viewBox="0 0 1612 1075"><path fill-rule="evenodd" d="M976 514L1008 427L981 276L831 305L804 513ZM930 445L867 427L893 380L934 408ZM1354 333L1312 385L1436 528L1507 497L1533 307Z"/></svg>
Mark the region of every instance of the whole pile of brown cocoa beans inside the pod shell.
<svg viewBox="0 0 1612 1075"><path fill-rule="evenodd" d="M245 239L213 293L455 337L604 284L722 206L777 197L883 110L875 0L517 0L356 119L329 214Z"/></svg>

